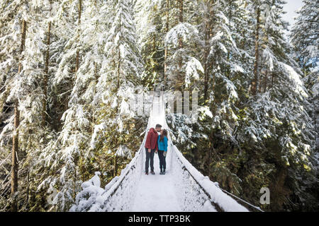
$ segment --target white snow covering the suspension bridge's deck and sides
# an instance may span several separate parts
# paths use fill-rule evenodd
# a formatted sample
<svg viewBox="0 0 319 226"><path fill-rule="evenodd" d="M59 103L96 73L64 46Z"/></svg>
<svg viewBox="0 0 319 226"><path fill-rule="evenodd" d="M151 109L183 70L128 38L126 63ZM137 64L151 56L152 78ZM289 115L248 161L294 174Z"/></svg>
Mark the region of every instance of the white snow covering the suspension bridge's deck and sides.
<svg viewBox="0 0 319 226"><path fill-rule="evenodd" d="M145 131L161 124L169 129L165 119L163 95L153 97L150 118ZM145 140L133 160L122 170L119 177L101 189L99 172L82 184L76 198L76 205L70 211L208 211L216 212L215 205L225 211L248 211L233 198L225 194L216 182L191 165L173 145L168 134L167 174L159 174L158 155L154 157L155 175L146 175ZM117 153L125 154L120 147ZM120 186L121 185L121 186ZM89 195L89 198L88 198Z"/></svg>

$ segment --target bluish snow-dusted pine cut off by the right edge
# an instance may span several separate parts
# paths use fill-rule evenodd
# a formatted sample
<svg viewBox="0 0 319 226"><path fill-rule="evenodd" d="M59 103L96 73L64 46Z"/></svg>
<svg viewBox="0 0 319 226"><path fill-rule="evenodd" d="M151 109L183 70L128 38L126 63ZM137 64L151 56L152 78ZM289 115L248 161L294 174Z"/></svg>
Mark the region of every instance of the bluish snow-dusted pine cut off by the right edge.
<svg viewBox="0 0 319 226"><path fill-rule="evenodd" d="M318 109L319 109L319 49L318 49L318 4L319 1L303 1L303 7L297 12L296 23L291 29L290 39L293 45L291 53L303 71L303 82L309 92L308 112L313 119L315 135L315 149L313 167L318 172ZM307 187L314 191L318 188L318 182L314 183L311 179L305 179ZM312 198L312 197L311 197ZM318 197L317 197L318 198Z"/></svg>

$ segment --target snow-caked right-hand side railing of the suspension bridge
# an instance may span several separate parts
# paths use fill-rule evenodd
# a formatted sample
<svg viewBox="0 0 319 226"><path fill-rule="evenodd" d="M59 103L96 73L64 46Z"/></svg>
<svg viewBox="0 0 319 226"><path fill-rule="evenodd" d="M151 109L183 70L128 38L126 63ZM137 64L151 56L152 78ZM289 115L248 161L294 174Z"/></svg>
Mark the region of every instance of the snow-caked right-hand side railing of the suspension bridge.
<svg viewBox="0 0 319 226"><path fill-rule="evenodd" d="M211 182L206 176L189 163L172 145L172 171L176 174L179 182L175 183L179 191L179 203L183 211L218 211L237 212L248 211L232 197L225 194L217 183Z"/></svg>

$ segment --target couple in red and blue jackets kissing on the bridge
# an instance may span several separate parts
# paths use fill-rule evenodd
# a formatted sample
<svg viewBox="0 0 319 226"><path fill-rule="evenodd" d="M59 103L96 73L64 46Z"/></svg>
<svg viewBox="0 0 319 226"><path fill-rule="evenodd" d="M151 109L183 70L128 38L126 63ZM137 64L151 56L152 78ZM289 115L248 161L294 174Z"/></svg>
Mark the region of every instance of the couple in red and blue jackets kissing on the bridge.
<svg viewBox="0 0 319 226"><path fill-rule="evenodd" d="M159 157L159 174L165 174L166 168L166 154L167 154L167 130L161 129L162 126L157 124L154 128L151 128L147 133L145 141L146 162L145 162L145 174L148 175L148 165L150 163L151 174L154 172L154 153L158 153ZM158 135L160 132L160 135Z"/></svg>

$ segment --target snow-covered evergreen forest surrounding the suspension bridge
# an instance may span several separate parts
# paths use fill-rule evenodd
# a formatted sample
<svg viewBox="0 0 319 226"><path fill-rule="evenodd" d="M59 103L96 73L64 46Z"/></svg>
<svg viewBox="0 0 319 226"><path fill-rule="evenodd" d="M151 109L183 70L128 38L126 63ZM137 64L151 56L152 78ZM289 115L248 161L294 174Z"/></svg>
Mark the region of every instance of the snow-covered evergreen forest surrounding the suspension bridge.
<svg viewBox="0 0 319 226"><path fill-rule="evenodd" d="M318 212L319 0L290 30L284 4L1 0L0 211L69 211L94 172L121 174L148 118L128 100L163 84L198 90L196 123L167 122L202 174L265 211Z"/></svg>

